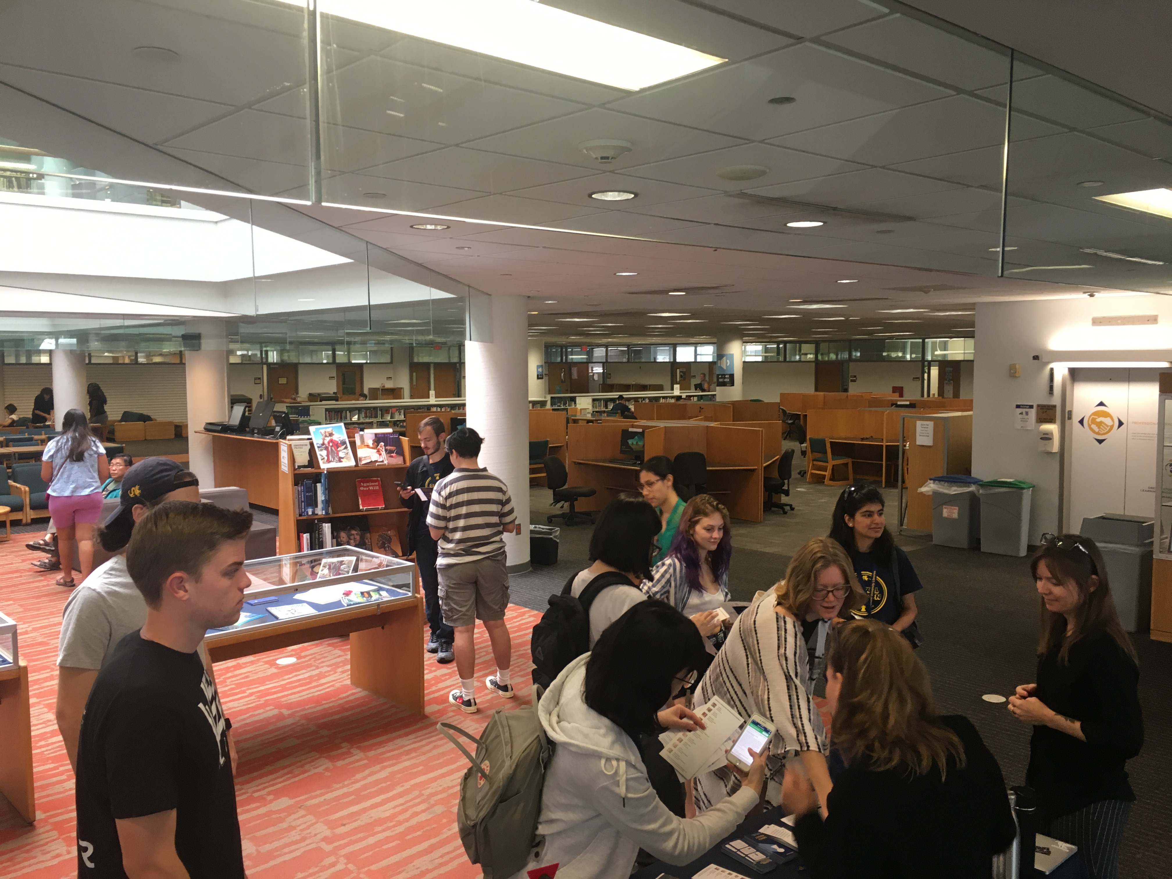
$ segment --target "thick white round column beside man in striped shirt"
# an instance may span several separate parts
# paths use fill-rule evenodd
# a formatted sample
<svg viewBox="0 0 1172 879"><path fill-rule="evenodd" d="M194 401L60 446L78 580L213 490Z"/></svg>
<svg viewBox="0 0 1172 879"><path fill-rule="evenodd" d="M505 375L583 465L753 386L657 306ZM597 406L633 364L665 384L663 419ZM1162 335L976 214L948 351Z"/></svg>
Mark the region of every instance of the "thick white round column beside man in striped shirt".
<svg viewBox="0 0 1172 879"><path fill-rule="evenodd" d="M484 437L481 465L509 486L520 534L505 534L510 572L529 570L529 383L525 298L472 294L465 347L468 425Z"/></svg>

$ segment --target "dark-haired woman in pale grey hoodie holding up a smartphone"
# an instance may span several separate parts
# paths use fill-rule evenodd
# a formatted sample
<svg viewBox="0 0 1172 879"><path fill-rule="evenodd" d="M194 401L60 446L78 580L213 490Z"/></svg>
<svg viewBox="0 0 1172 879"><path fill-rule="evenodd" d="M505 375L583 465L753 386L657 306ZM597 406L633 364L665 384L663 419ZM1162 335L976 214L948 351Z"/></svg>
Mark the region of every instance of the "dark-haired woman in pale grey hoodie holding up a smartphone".
<svg viewBox="0 0 1172 879"><path fill-rule="evenodd" d="M688 686L704 661L696 626L674 607L643 601L620 616L592 653L571 662L541 696L538 716L553 759L545 774L537 832L545 838L536 867L558 865L558 879L626 879L639 849L687 864L740 824L761 797L764 756L741 789L696 818L680 818L660 802L638 740L673 725L691 728L680 709L660 709Z"/></svg>

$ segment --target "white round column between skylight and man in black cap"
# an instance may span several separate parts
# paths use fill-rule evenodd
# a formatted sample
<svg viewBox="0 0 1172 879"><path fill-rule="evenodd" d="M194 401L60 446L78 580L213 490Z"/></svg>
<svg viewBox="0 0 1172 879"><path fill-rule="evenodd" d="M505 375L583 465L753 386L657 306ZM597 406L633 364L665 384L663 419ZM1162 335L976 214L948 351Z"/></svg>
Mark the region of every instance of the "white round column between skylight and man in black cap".
<svg viewBox="0 0 1172 879"><path fill-rule="evenodd" d="M197 431L209 421L227 420L227 327L223 320L186 321L188 333L199 333L199 350L185 352L188 361L188 468L204 488L216 486L212 438Z"/></svg>

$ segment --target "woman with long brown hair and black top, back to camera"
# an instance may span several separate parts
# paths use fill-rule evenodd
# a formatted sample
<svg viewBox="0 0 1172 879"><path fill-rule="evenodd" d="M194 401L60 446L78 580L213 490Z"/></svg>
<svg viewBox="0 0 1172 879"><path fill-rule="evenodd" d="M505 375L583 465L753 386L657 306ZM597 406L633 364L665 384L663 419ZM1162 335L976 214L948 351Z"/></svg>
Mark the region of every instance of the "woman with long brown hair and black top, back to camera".
<svg viewBox="0 0 1172 879"><path fill-rule="evenodd" d="M1016 833L1001 768L967 717L936 714L904 636L875 620L839 626L826 701L846 763L829 815L805 778L788 771L784 784L811 878L987 879Z"/></svg>

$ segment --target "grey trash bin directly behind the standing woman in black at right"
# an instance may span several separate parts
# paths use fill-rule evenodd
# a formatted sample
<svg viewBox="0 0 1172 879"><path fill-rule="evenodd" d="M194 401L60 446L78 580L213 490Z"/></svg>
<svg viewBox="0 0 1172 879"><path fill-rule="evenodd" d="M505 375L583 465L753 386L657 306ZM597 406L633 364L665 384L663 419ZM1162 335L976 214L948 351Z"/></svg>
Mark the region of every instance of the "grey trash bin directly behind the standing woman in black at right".
<svg viewBox="0 0 1172 879"><path fill-rule="evenodd" d="M1151 518L1123 513L1088 517L1078 532L1091 538L1103 553L1115 609L1127 632L1151 627L1154 532Z"/></svg>

